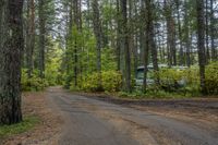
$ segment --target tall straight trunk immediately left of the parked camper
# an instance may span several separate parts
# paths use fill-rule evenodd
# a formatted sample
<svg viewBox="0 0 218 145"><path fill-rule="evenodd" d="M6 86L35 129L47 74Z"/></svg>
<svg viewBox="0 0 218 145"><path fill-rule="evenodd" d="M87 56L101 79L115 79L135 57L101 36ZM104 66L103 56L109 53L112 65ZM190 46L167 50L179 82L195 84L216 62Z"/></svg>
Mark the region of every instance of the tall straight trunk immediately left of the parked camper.
<svg viewBox="0 0 218 145"><path fill-rule="evenodd" d="M131 55L130 55L130 41L129 41L129 27L128 27L128 1L121 0L121 12L122 12L122 35L123 35L123 47L125 57L125 89L131 92Z"/></svg>

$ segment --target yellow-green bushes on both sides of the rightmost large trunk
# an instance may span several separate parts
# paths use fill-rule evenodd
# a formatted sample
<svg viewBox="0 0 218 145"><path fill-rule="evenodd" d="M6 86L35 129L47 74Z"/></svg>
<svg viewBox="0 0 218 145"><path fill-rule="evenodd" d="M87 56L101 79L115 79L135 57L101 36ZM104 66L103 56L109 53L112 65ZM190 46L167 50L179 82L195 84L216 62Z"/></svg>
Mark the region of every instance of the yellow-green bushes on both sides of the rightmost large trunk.
<svg viewBox="0 0 218 145"><path fill-rule="evenodd" d="M182 71L175 69L164 69L159 72L160 84L167 90L189 93L192 96L199 95L199 68L192 67ZM184 87L178 87L178 82L185 81ZM218 62L206 67L205 83L208 95L218 94Z"/></svg>

